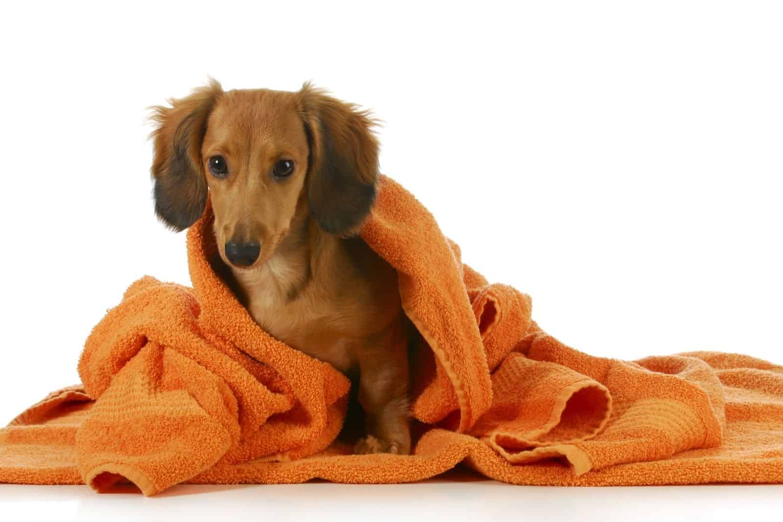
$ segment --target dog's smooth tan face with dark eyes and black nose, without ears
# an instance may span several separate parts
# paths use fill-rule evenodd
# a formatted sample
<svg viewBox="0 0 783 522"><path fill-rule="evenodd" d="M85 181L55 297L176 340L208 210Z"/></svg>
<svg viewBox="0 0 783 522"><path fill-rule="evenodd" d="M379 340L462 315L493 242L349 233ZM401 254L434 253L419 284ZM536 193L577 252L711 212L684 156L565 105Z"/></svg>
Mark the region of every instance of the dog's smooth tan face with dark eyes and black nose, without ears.
<svg viewBox="0 0 783 522"><path fill-rule="evenodd" d="M269 259L307 205L309 145L289 93L227 93L215 105L204 143L203 170L215 210L223 259L252 266Z"/></svg>

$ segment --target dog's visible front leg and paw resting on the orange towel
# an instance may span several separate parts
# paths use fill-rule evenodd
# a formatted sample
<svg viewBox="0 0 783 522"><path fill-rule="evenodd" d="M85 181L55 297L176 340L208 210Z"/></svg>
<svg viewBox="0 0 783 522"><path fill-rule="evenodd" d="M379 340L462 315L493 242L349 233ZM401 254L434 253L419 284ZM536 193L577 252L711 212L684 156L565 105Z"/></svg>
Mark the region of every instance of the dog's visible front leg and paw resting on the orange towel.
<svg viewBox="0 0 783 522"><path fill-rule="evenodd" d="M399 333L359 354L359 403L366 414L366 437L354 452L410 453L408 351ZM392 340L393 338L393 340Z"/></svg>

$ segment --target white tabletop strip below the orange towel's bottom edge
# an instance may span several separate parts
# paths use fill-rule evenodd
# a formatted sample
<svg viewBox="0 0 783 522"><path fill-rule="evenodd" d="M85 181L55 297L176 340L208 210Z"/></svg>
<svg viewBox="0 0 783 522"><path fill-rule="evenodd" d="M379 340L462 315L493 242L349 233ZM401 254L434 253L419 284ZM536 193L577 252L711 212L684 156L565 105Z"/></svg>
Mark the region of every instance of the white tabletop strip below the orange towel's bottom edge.
<svg viewBox="0 0 783 522"><path fill-rule="evenodd" d="M0 485L24 520L780 520L783 486L540 488L456 475L417 484L182 485L161 495ZM11 519L7 519L11 520ZM21 519L20 519L21 520Z"/></svg>

